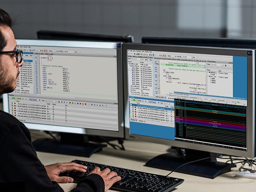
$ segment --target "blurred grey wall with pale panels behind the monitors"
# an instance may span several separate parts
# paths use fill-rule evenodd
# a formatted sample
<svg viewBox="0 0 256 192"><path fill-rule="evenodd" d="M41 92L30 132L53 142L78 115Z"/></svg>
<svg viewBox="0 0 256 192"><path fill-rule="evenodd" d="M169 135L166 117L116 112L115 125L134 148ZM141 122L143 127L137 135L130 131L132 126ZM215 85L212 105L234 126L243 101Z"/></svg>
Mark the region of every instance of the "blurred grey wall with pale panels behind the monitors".
<svg viewBox="0 0 256 192"><path fill-rule="evenodd" d="M16 38L38 30L159 37L256 38L255 0L1 0Z"/></svg>

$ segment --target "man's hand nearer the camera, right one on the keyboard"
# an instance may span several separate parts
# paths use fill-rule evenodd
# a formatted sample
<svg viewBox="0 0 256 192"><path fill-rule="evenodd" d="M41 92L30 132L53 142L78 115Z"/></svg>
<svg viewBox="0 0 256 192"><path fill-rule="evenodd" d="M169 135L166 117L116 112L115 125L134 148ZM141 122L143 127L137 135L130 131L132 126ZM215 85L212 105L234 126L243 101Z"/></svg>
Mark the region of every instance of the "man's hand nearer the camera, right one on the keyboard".
<svg viewBox="0 0 256 192"><path fill-rule="evenodd" d="M90 174L98 174L100 175L103 180L104 180L104 184L105 184L105 192L115 183L121 180L120 176L117 176L116 172L111 171L109 168L104 169L103 171L100 170L99 167L94 168L94 170L92 170L92 172L90 172L88 175Z"/></svg>

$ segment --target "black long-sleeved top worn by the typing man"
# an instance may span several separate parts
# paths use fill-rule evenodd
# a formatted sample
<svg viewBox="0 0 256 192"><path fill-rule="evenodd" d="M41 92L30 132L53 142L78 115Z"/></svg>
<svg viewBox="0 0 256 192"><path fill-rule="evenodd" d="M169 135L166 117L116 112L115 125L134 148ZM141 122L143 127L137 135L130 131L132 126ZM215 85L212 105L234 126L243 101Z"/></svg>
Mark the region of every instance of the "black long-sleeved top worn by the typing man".
<svg viewBox="0 0 256 192"><path fill-rule="evenodd" d="M30 132L14 116L0 110L0 191L63 192L50 181L44 165L37 158ZM104 192L104 181L91 174L72 192Z"/></svg>

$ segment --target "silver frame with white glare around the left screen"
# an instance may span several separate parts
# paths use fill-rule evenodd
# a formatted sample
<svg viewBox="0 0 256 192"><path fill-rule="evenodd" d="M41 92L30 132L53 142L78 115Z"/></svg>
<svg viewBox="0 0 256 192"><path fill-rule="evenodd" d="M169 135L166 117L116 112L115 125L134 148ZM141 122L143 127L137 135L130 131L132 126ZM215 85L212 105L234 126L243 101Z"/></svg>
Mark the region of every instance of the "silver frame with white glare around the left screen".
<svg viewBox="0 0 256 192"><path fill-rule="evenodd" d="M72 126L57 126L23 122L28 129L96 136L109 136L124 138L124 107L123 107L123 77L122 77L122 42L86 42L86 41L60 41L60 40L28 40L16 39L21 46L49 46L49 47L77 47L77 48L110 48L117 50L117 80L118 80L118 131L100 130L92 128L79 128ZM3 94L3 110L9 113L8 94Z"/></svg>

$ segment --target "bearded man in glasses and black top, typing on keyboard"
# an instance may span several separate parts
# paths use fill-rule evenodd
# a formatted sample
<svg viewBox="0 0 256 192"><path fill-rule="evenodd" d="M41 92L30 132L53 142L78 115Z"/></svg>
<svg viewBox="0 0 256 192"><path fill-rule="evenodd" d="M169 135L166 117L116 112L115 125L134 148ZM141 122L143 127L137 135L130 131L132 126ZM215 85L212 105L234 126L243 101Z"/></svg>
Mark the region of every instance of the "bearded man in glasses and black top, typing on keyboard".
<svg viewBox="0 0 256 192"><path fill-rule="evenodd" d="M24 62L22 51L16 49L10 16L0 9L0 95L16 88L19 67ZM86 166L75 163L57 163L44 166L31 144L30 132L19 120L0 110L0 190L19 192L63 191L57 182L73 182L60 177L61 172L86 172ZM95 168L78 183L72 192L106 192L121 178L108 168Z"/></svg>

